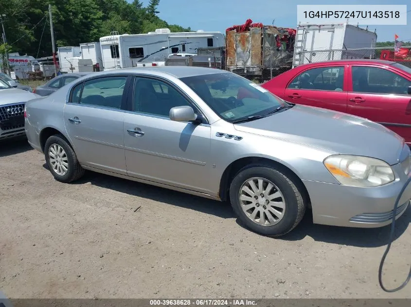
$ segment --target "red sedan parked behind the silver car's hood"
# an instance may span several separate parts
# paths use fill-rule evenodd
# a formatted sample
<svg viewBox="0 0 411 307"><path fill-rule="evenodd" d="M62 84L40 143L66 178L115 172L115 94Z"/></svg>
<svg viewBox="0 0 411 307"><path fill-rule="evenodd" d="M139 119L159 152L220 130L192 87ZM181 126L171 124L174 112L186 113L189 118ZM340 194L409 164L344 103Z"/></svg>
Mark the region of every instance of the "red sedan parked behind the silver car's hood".
<svg viewBox="0 0 411 307"><path fill-rule="evenodd" d="M382 60L297 66L262 84L284 100L367 118L411 146L411 68Z"/></svg>

